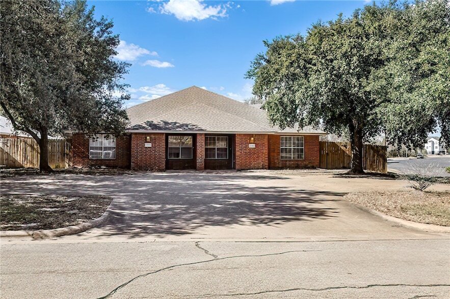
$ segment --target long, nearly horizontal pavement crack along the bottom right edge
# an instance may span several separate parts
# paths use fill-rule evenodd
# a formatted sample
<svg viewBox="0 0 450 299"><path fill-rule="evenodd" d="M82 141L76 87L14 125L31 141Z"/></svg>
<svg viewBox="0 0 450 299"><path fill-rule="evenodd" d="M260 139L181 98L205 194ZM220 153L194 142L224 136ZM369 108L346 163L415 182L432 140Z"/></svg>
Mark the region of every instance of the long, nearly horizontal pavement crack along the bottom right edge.
<svg viewBox="0 0 450 299"><path fill-rule="evenodd" d="M291 289L284 289L284 290L266 290L266 291L259 291L254 293L227 293L227 294L203 294L198 295L196 297L217 297L217 296L245 296L245 295L259 295L259 294L265 294L265 293L278 293L278 292L290 292L290 291L328 291L328 290L336 290L336 289L366 289L366 288L372 288L372 287L394 287L394 286L411 286L411 287L438 287L438 286L450 286L450 284L403 284L403 283L396 283L396 284L369 284L365 286L335 286L335 287L326 287L326 288L319 288L319 289L311 289L311 288L291 288ZM416 295L412 297L411 299L420 298L420 297L436 297L435 295Z"/></svg>

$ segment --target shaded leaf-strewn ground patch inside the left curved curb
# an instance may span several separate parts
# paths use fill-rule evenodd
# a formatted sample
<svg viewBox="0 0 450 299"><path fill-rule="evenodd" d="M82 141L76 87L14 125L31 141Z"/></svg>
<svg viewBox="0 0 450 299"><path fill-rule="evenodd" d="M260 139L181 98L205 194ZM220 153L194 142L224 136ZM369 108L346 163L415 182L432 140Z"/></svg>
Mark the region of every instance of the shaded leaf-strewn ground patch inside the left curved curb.
<svg viewBox="0 0 450 299"><path fill-rule="evenodd" d="M0 195L1 230L52 229L100 217L111 203L106 196Z"/></svg>

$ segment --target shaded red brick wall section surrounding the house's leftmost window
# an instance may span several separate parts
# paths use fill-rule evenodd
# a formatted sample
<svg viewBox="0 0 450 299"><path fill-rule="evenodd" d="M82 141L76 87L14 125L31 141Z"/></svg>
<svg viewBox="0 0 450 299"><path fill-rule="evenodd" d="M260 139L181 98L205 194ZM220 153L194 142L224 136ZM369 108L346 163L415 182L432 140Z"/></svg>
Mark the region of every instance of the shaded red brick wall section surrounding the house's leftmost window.
<svg viewBox="0 0 450 299"><path fill-rule="evenodd" d="M130 167L130 136L120 136L116 139L116 159L89 159L89 138L84 133L72 135L72 165L73 166L107 166L117 168Z"/></svg>

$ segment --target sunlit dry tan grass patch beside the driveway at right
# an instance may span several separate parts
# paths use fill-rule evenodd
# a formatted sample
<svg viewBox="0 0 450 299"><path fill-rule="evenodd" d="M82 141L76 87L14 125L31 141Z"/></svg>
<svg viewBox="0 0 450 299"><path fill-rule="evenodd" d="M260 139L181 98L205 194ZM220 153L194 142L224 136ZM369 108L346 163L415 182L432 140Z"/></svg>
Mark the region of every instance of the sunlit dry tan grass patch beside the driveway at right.
<svg viewBox="0 0 450 299"><path fill-rule="evenodd" d="M404 220L450 226L450 192L359 192L345 199Z"/></svg>

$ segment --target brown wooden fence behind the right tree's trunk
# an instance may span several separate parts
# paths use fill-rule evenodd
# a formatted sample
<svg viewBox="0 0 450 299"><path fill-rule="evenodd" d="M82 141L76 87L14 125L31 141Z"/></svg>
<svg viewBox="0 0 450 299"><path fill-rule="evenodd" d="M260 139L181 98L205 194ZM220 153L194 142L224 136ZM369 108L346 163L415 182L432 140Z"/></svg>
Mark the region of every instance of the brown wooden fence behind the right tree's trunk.
<svg viewBox="0 0 450 299"><path fill-rule="evenodd" d="M386 146L364 144L362 166L365 170L387 172ZM320 142L320 167L326 169L350 168L352 151L349 142Z"/></svg>

